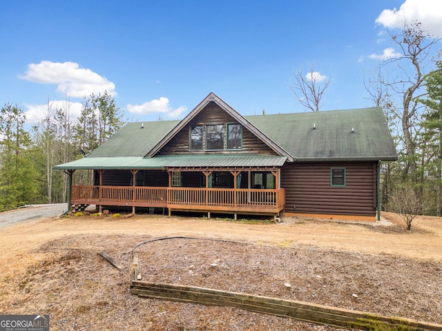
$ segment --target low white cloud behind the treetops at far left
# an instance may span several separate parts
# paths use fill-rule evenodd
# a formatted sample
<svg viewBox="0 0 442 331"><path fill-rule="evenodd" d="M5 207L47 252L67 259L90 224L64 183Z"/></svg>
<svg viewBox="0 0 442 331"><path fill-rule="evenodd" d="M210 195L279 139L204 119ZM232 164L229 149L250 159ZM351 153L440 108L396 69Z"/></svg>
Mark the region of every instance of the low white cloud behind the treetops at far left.
<svg viewBox="0 0 442 331"><path fill-rule="evenodd" d="M37 124L46 117L54 117L57 109L64 110L68 114L71 122L75 121L81 114L81 108L83 105L80 102L70 102L63 100L50 101L49 104L44 105L28 105L25 104L28 110L26 114L26 123Z"/></svg>

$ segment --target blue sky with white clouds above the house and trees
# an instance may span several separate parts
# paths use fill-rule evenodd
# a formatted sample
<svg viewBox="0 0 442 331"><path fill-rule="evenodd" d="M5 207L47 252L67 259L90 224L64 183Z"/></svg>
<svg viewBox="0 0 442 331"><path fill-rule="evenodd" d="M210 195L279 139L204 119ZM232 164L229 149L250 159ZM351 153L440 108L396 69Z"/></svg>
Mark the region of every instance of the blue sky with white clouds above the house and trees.
<svg viewBox="0 0 442 331"><path fill-rule="evenodd" d="M215 92L244 115L303 112L289 86L313 64L332 80L323 110L363 108L363 77L397 54L385 31L404 19L442 35L442 1L6 0L0 105L35 122L68 100L75 117L107 90L129 121L155 121Z"/></svg>

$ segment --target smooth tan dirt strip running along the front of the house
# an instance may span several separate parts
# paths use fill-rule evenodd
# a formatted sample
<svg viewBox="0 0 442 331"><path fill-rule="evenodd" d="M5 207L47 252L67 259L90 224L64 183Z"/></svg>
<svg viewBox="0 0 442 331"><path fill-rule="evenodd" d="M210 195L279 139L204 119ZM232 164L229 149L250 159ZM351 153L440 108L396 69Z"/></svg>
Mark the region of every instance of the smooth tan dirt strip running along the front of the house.
<svg viewBox="0 0 442 331"><path fill-rule="evenodd" d="M40 218L0 230L3 257L73 234L145 234L148 237L190 236L274 245L315 245L330 250L442 260L442 218L419 217L412 230L396 214L381 222L287 218L282 223L238 223L216 219L136 216ZM6 253L6 254L5 254Z"/></svg>

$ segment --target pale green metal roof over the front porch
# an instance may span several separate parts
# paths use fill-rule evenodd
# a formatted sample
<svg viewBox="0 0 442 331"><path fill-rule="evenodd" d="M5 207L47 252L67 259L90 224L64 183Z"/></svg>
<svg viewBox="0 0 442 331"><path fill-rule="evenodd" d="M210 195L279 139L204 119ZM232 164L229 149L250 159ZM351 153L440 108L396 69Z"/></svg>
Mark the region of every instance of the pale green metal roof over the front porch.
<svg viewBox="0 0 442 331"><path fill-rule="evenodd" d="M280 167L286 157L264 154L202 154L144 157L84 157L55 165L57 170L165 169L165 168L266 168Z"/></svg>

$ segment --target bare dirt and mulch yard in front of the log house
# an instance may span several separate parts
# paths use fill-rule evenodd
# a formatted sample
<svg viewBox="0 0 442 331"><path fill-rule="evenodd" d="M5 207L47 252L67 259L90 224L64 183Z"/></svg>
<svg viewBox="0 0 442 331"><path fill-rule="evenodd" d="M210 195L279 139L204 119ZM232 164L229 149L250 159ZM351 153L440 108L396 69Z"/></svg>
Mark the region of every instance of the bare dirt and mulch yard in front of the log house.
<svg viewBox="0 0 442 331"><path fill-rule="evenodd" d="M442 218L419 217L407 231L389 213L376 223L153 215L35 219L0 230L0 314L50 314L51 330L335 330L133 296L133 249L162 237L192 239L138 246L143 280L442 324Z"/></svg>

